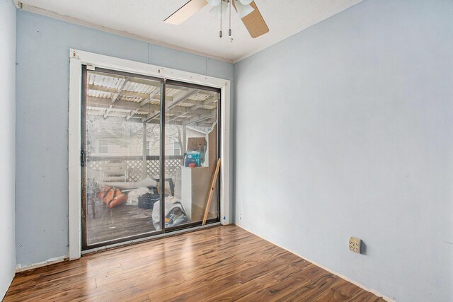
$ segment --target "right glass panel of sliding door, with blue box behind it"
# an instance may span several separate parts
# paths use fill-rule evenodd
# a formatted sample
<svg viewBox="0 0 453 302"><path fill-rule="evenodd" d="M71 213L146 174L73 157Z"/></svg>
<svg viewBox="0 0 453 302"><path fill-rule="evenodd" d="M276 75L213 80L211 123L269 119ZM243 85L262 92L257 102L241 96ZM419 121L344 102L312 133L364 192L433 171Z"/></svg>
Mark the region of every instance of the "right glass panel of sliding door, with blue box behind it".
<svg viewBox="0 0 453 302"><path fill-rule="evenodd" d="M165 108L165 226L170 231L199 225L205 214L219 158L219 91L167 81ZM219 220L217 185L209 221Z"/></svg>

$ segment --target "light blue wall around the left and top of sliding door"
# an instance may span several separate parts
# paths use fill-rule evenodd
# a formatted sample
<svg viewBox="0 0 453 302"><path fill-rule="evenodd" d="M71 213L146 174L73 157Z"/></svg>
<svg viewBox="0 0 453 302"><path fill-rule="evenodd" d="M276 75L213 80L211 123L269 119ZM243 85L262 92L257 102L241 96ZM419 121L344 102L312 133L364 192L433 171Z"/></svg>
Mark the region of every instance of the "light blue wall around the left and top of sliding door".
<svg viewBox="0 0 453 302"><path fill-rule="evenodd" d="M229 80L234 68L25 11L17 30L17 263L28 266L68 254L69 48Z"/></svg>

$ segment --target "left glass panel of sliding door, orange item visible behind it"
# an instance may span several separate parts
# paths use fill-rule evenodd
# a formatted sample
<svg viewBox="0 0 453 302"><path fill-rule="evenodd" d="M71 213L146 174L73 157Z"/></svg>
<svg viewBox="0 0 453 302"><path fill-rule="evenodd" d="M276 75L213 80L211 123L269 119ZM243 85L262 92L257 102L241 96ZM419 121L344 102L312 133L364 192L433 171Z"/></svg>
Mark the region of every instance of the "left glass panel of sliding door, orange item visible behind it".
<svg viewBox="0 0 453 302"><path fill-rule="evenodd" d="M156 233L161 80L84 69L82 245L84 249ZM160 219L159 213L155 216Z"/></svg>

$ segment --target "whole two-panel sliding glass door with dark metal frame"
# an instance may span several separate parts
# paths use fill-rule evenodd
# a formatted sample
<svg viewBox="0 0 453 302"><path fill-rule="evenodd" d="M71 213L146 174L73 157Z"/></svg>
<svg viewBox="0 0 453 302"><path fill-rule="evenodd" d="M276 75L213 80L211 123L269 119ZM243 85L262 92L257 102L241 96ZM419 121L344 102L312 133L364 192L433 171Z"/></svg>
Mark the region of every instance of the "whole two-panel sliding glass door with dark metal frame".
<svg viewBox="0 0 453 302"><path fill-rule="evenodd" d="M98 68L82 77L82 248L219 221L219 90Z"/></svg>

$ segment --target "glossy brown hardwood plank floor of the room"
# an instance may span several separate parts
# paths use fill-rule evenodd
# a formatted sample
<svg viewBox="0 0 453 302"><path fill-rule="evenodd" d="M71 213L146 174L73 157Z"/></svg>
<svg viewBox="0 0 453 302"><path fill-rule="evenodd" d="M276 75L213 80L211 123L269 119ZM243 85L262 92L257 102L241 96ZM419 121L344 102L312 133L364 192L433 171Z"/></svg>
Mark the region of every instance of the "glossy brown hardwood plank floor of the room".
<svg viewBox="0 0 453 302"><path fill-rule="evenodd" d="M384 301L238 226L17 274L4 301Z"/></svg>

